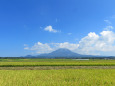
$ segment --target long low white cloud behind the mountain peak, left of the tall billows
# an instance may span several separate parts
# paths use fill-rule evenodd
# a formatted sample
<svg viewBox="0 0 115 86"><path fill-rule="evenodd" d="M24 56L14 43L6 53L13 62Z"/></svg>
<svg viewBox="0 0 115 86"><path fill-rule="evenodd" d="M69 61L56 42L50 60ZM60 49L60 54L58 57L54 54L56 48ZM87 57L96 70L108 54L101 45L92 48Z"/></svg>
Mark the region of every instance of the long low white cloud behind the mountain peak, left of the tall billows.
<svg viewBox="0 0 115 86"><path fill-rule="evenodd" d="M70 50L75 50L76 48L78 48L78 44L73 44L73 43L69 43L69 42L64 42L64 43L35 43L32 47L25 47L24 49L26 50L32 50L32 51L36 51L36 53L38 54L42 54L42 53L50 53L56 49L59 48L67 48Z"/></svg>

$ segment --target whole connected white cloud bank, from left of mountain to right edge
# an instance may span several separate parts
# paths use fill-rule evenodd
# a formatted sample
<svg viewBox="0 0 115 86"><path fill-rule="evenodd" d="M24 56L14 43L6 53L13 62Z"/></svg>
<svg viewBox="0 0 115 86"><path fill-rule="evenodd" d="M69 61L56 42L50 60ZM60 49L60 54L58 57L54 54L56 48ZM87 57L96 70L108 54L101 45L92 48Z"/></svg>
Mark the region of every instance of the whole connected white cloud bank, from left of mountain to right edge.
<svg viewBox="0 0 115 86"><path fill-rule="evenodd" d="M102 31L88 33L78 43L35 43L32 47L25 46L24 49L35 51L38 54L50 53L58 48L67 48L76 53L89 55L103 55L107 52L115 52L115 33L113 31Z"/></svg>

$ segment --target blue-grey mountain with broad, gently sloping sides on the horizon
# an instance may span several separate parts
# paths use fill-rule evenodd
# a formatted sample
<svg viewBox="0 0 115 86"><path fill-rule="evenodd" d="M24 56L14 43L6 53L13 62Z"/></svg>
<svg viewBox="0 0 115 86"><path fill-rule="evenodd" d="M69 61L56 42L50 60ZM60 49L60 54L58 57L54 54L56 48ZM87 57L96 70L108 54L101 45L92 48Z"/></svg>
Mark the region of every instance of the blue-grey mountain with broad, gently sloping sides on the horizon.
<svg viewBox="0 0 115 86"><path fill-rule="evenodd" d="M78 53L74 53L70 51L69 49L60 48L48 54L40 54L36 56L27 55L25 57L28 57L28 58L83 58L84 57L85 58L85 57L100 57L100 56L81 55Z"/></svg>

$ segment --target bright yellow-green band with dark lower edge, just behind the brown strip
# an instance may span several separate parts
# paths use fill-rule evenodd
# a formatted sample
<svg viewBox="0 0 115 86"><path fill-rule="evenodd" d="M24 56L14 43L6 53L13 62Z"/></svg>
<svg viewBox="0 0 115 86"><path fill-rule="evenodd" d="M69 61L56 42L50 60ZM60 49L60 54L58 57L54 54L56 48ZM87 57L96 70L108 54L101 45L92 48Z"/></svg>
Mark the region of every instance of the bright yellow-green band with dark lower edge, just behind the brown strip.
<svg viewBox="0 0 115 86"><path fill-rule="evenodd" d="M113 61L40 61L40 62L0 62L0 67L35 66L115 66Z"/></svg>

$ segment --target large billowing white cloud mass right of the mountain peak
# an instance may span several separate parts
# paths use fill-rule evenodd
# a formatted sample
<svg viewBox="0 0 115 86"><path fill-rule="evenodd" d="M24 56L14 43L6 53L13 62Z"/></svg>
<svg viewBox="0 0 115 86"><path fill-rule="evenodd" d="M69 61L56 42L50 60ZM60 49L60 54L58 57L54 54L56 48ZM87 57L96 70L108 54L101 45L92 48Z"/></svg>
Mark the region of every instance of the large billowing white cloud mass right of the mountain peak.
<svg viewBox="0 0 115 86"><path fill-rule="evenodd" d="M100 35L90 32L79 42L78 52L83 54L96 54L96 52L115 51L115 33L102 31Z"/></svg>

